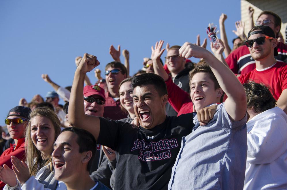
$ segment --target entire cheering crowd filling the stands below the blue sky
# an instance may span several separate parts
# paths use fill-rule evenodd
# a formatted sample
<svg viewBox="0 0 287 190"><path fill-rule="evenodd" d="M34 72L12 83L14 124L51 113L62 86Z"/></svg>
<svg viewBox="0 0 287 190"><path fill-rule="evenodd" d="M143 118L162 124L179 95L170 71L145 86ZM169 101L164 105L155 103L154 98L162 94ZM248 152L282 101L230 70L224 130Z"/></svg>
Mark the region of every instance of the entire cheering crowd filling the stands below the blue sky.
<svg viewBox="0 0 287 190"><path fill-rule="evenodd" d="M287 189L287 46L277 14L254 26L253 13L247 36L235 23L232 49L222 14L212 52L199 36L160 40L130 77L129 52L122 64L111 46L105 79L91 54L75 58L70 87L43 74L54 91L8 111L0 188Z"/></svg>

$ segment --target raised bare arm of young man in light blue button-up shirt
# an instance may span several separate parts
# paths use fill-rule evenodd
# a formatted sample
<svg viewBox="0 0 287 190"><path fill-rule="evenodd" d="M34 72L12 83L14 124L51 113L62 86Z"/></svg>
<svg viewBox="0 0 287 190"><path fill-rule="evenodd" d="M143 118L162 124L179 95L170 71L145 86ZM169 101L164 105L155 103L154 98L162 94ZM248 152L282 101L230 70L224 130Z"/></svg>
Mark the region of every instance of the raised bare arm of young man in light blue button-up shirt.
<svg viewBox="0 0 287 190"><path fill-rule="evenodd" d="M246 94L243 85L232 71L211 52L198 45L186 42L180 48L179 53L185 58L203 58L209 64L220 87L228 96L224 104L230 119L234 121L243 119L247 110Z"/></svg>

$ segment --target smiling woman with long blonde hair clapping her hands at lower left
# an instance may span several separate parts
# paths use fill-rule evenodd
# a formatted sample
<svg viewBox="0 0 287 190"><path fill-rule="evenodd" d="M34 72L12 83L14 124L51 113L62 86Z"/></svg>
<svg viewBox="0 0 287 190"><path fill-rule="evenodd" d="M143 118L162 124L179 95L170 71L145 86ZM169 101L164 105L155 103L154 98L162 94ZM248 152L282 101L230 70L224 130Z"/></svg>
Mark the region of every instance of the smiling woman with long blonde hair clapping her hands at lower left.
<svg viewBox="0 0 287 190"><path fill-rule="evenodd" d="M52 157L53 145L61 132L61 125L54 111L37 108L30 114L25 131L26 163L12 157L12 168L3 169L6 182L4 189L66 189L63 182L54 179ZM34 177L35 176L35 177ZM18 182L16 181L16 177Z"/></svg>

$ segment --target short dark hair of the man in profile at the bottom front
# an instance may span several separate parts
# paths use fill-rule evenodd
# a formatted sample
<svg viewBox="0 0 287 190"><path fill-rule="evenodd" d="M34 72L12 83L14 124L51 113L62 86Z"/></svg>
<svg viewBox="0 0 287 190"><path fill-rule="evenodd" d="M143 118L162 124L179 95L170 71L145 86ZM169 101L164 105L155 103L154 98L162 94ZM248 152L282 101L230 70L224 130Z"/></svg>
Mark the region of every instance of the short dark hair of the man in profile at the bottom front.
<svg viewBox="0 0 287 190"><path fill-rule="evenodd" d="M92 157L88 162L87 170L90 171L90 168L92 166L92 161L95 157L96 153L96 147L97 147L97 141L95 137L88 131L76 127L67 127L62 130L64 131L69 131L72 133L75 133L78 138L76 140L77 144L79 145L79 153L83 153L86 151L92 151Z"/></svg>

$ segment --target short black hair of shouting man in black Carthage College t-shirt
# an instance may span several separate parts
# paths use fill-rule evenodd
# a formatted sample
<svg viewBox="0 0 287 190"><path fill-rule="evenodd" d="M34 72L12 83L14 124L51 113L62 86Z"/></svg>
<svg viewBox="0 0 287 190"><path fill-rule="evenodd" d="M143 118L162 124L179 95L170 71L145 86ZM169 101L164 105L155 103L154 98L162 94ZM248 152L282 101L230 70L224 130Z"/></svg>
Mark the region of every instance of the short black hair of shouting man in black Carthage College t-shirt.
<svg viewBox="0 0 287 190"><path fill-rule="evenodd" d="M167 86L165 84L165 81L159 75L156 75L154 73L143 73L141 75L133 77L132 81L133 89L137 86L141 87L143 85L149 85L149 84L154 85L159 96L167 94Z"/></svg>

